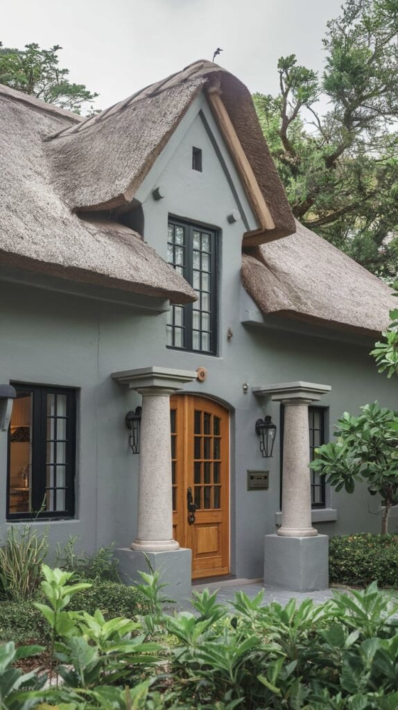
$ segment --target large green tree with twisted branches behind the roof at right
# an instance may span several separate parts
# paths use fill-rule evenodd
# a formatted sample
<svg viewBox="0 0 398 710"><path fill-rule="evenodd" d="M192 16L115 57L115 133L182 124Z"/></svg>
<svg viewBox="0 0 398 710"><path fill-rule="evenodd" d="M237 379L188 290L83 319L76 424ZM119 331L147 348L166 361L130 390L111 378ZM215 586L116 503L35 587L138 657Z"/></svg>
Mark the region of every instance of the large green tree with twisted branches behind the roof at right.
<svg viewBox="0 0 398 710"><path fill-rule="evenodd" d="M347 0L328 22L321 77L280 58L255 94L294 216L373 273L398 268L398 0ZM316 104L322 99L324 115Z"/></svg>

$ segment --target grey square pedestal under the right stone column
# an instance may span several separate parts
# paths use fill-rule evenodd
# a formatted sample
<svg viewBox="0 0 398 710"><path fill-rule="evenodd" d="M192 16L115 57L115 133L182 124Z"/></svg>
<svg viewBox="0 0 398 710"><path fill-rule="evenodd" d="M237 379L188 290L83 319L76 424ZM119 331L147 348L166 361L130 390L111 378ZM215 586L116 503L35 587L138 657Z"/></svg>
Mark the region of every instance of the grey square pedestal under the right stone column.
<svg viewBox="0 0 398 710"><path fill-rule="evenodd" d="M264 584L274 589L328 588L328 536L265 535Z"/></svg>

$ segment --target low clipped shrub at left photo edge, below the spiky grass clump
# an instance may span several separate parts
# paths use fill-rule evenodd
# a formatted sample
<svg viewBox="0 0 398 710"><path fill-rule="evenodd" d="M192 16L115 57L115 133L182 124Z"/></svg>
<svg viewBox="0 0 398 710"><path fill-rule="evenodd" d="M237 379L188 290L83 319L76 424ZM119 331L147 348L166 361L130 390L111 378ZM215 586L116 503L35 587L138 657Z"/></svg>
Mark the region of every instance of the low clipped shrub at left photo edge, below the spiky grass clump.
<svg viewBox="0 0 398 710"><path fill-rule="evenodd" d="M0 643L13 640L48 643L49 627L43 614L28 601L0 601Z"/></svg>

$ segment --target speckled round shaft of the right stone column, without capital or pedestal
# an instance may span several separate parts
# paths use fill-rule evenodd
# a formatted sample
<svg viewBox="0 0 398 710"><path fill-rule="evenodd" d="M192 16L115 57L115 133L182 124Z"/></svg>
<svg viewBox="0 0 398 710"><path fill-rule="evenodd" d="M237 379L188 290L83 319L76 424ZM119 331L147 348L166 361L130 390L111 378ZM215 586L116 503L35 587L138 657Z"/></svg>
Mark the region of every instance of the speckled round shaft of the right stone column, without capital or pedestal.
<svg viewBox="0 0 398 710"><path fill-rule="evenodd" d="M284 537L311 537L308 408L312 400L286 399L283 428L282 526Z"/></svg>

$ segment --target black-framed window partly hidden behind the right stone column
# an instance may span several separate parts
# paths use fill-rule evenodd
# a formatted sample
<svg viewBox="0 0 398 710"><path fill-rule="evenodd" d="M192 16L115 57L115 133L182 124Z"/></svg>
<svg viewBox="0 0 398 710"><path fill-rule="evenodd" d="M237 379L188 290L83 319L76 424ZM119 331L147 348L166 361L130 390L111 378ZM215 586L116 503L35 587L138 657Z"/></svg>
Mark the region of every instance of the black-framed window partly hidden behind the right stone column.
<svg viewBox="0 0 398 710"><path fill-rule="evenodd" d="M325 408L309 407L309 457L314 461L316 447L325 443ZM283 470L283 432L284 432L284 406L280 408L280 506L282 508L282 470ZM311 470L311 507L326 507L326 486L325 477L319 476L316 471Z"/></svg>

